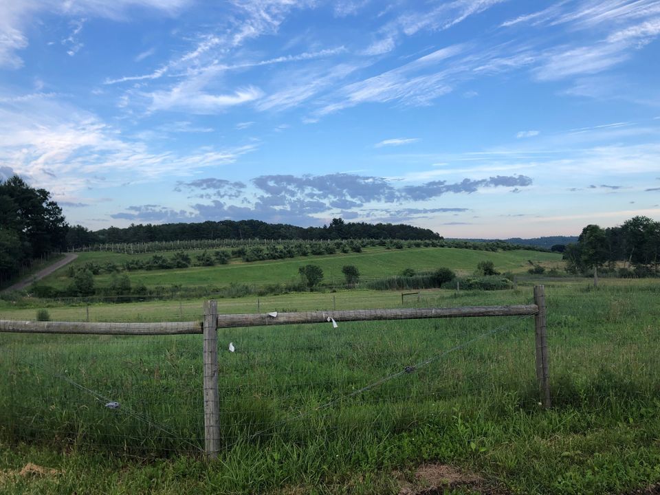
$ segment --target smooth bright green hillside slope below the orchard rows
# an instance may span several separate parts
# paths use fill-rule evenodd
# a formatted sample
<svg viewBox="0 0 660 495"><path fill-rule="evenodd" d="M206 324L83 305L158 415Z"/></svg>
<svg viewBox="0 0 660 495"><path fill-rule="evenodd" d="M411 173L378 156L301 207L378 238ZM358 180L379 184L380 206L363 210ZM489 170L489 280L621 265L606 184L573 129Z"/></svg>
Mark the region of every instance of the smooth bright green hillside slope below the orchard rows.
<svg viewBox="0 0 660 495"><path fill-rule="evenodd" d="M199 251L201 252L201 251ZM197 253L199 253L197 252ZM190 252L194 254L195 252ZM157 253L172 256L172 252ZM117 263L121 265L130 259L147 260L150 254L118 254L111 252L80 253L72 266L80 266L88 261L96 263ZM541 262L551 267L563 267L561 254L538 251L474 251L455 248L412 248L405 250L386 250L385 248L364 248L361 253L331 254L323 256L298 256L292 259L254 261L243 263L233 261L228 265L213 267L189 267L173 270L137 270L126 272L131 283L141 281L146 287L157 285L184 285L184 286L216 286L223 287L231 283L244 283L265 285L272 283L285 283L298 280L298 267L313 263L319 265L325 275L326 283L342 283L342 266L355 265L360 270L362 278L375 278L397 275L405 268L416 271L435 270L438 267L449 267L459 274L470 274L476 269L479 261L493 261L496 269L501 272L527 272L530 265L528 260ZM111 276L101 274L95 277L98 287L110 284ZM43 284L63 289L71 283L66 269L58 270L51 276L43 279Z"/></svg>

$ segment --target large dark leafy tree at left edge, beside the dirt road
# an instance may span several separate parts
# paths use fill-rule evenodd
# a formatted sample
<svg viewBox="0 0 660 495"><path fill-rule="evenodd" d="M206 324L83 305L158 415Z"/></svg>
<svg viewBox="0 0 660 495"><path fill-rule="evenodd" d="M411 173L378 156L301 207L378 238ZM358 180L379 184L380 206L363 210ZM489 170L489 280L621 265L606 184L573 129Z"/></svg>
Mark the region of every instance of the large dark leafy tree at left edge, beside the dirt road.
<svg viewBox="0 0 660 495"><path fill-rule="evenodd" d="M0 181L0 275L8 278L21 263L65 247L69 226L45 189L18 175Z"/></svg>

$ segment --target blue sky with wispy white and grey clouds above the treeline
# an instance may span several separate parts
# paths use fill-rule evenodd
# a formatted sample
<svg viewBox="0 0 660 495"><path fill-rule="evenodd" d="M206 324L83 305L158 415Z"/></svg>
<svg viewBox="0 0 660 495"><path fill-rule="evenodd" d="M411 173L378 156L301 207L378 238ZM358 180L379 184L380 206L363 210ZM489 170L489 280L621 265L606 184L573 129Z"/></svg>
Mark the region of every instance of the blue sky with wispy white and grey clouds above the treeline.
<svg viewBox="0 0 660 495"><path fill-rule="evenodd" d="M67 221L660 219L660 0L0 0L0 180Z"/></svg>

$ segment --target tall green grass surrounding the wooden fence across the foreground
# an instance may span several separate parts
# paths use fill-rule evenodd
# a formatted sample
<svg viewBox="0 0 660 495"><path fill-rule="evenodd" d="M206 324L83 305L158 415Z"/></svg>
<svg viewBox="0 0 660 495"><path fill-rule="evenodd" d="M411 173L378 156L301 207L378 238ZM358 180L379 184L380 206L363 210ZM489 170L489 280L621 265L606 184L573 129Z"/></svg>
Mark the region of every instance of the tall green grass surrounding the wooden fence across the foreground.
<svg viewBox="0 0 660 495"><path fill-rule="evenodd" d="M529 303L531 285L420 296L422 306ZM223 452L210 464L196 453L201 336L0 335L0 493L397 493L423 463L482 478L455 493L646 489L660 483L659 296L652 281L547 285L551 410L538 407L530 318L221 330ZM255 299L221 301L222 311L252 312ZM401 299L362 291L260 303L281 311ZM91 314L161 320L159 305L174 304L166 319L177 319L175 302L148 304ZM28 309L0 314L21 317L12 311ZM80 308L50 311L59 319ZM54 471L21 474L28 462Z"/></svg>

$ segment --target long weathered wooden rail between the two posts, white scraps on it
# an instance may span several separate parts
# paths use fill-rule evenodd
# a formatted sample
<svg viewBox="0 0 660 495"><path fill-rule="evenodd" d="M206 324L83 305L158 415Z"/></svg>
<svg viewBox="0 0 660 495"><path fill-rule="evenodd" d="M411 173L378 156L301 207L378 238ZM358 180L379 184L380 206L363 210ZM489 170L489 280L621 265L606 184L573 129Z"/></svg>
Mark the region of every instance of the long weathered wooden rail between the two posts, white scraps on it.
<svg viewBox="0 0 660 495"><path fill-rule="evenodd" d="M475 306L415 309L355 309L353 311L300 311L296 313L218 315L218 328L261 327L370 320L417 320L422 318L465 318L471 316L527 316L538 313L537 305Z"/></svg>

